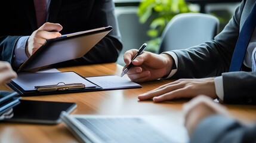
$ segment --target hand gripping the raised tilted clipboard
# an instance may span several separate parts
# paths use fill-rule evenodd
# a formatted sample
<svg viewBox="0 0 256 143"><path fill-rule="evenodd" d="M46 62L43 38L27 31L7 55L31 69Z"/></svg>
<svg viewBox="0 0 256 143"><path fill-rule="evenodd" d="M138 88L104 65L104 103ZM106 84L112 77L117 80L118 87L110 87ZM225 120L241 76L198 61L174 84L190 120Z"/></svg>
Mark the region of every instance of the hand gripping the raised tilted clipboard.
<svg viewBox="0 0 256 143"><path fill-rule="evenodd" d="M58 23L45 23L38 30L35 30L27 40L27 57L30 57L47 39L60 37L60 30L62 30L62 26Z"/></svg>

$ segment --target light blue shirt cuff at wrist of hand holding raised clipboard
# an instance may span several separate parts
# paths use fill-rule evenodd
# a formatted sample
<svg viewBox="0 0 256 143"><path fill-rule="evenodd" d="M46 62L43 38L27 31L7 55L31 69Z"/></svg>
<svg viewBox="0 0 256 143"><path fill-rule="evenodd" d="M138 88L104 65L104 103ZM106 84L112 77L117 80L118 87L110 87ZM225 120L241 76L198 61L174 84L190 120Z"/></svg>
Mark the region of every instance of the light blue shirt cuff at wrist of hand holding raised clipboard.
<svg viewBox="0 0 256 143"><path fill-rule="evenodd" d="M14 49L14 65L17 67L21 63L24 63L24 61L27 60L27 55L26 55L26 43L27 39L29 39L29 36L22 36L21 38L18 39L15 49Z"/></svg>

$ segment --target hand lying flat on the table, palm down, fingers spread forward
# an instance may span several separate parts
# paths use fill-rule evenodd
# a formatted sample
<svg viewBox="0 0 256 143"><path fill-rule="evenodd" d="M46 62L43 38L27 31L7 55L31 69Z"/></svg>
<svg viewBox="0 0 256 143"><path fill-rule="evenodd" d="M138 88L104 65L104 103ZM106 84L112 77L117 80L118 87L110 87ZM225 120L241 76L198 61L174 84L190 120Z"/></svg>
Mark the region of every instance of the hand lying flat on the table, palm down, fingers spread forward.
<svg viewBox="0 0 256 143"><path fill-rule="evenodd" d="M217 98L214 77L205 79L179 79L138 95L138 99L153 99L154 102L161 102L177 98L193 98L201 94L213 99Z"/></svg>

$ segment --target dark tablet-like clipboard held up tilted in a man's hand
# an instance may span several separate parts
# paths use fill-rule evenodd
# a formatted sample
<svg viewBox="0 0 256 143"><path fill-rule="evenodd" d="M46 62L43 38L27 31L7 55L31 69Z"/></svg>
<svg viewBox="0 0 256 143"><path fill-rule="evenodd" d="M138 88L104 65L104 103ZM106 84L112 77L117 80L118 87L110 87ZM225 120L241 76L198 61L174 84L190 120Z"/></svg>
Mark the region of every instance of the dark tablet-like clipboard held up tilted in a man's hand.
<svg viewBox="0 0 256 143"><path fill-rule="evenodd" d="M107 26L48 39L44 45L21 64L17 72L36 71L52 64L81 58L111 30L112 27Z"/></svg>

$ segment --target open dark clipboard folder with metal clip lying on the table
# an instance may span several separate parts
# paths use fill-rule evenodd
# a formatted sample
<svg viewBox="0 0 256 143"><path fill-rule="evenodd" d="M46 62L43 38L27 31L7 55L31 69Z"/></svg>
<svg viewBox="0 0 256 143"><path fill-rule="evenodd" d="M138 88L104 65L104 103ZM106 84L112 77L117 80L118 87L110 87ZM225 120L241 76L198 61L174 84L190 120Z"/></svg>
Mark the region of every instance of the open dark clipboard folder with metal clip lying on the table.
<svg viewBox="0 0 256 143"><path fill-rule="evenodd" d="M141 88L138 83L115 75L82 77L74 71L57 73L18 73L17 79L7 83L20 96L68 94Z"/></svg>

